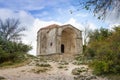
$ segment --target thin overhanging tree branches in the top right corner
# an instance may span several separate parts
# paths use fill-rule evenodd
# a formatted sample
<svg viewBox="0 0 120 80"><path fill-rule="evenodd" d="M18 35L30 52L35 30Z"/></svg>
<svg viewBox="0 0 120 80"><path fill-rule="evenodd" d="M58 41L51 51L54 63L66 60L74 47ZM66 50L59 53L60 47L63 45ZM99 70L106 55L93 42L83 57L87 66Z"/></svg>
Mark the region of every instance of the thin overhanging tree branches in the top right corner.
<svg viewBox="0 0 120 80"><path fill-rule="evenodd" d="M105 19L112 12L116 19L120 17L120 0L80 0L80 3L86 10L93 11L98 19Z"/></svg>

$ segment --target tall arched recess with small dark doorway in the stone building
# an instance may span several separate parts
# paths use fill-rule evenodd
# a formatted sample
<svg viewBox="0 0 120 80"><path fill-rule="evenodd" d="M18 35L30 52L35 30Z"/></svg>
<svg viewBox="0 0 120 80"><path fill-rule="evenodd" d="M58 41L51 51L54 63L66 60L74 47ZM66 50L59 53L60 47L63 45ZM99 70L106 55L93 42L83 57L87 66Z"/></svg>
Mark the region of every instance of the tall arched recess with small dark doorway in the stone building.
<svg viewBox="0 0 120 80"><path fill-rule="evenodd" d="M62 31L61 53L76 53L76 33L72 28L65 28Z"/></svg>

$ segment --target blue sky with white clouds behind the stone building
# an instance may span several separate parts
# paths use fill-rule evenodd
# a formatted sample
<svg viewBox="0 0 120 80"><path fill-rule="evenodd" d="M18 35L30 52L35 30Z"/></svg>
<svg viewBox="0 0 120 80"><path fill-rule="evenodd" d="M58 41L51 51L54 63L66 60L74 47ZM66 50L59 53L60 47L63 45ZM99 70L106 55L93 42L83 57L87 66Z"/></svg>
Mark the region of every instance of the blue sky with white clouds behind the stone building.
<svg viewBox="0 0 120 80"><path fill-rule="evenodd" d="M79 7L79 0L0 0L0 19L6 18L20 19L21 26L27 28L22 41L33 47L29 52L33 55L36 55L37 31L50 24L71 24L80 30L88 24L94 30L110 29L120 23L113 17L105 21L97 19L92 12Z"/></svg>

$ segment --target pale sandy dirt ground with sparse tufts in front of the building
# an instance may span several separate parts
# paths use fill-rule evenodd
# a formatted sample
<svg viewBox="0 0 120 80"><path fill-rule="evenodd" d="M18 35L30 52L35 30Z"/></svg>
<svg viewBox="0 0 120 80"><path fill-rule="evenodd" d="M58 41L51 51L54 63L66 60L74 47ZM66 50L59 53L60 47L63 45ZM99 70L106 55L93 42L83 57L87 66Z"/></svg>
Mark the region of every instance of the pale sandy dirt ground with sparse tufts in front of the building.
<svg viewBox="0 0 120 80"><path fill-rule="evenodd" d="M36 66L36 63L39 66ZM50 67L47 67L45 72L37 72L35 69L40 68L42 64L50 64ZM0 69L0 76L6 78L5 80L107 80L106 78L91 77L91 79L82 79L84 75L87 77L91 76L91 70L88 69L87 65L74 65L73 62L55 62L55 61L47 61L47 62L39 62L38 60L34 60L29 64L17 68L7 68ZM43 67L44 68L44 67ZM82 73L82 78L80 75L73 75L72 70L75 68L85 68L88 69L87 72ZM92 75L93 76L93 75ZM1 80L1 79L0 79Z"/></svg>

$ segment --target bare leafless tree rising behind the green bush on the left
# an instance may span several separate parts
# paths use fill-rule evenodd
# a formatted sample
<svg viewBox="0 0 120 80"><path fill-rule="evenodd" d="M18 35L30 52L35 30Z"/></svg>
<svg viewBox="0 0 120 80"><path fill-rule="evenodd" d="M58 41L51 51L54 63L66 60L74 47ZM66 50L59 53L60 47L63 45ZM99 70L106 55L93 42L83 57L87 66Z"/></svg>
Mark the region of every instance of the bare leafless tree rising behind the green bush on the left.
<svg viewBox="0 0 120 80"><path fill-rule="evenodd" d="M25 31L24 27L20 27L18 19L0 20L0 36L7 41L19 40L23 35L21 32Z"/></svg>

